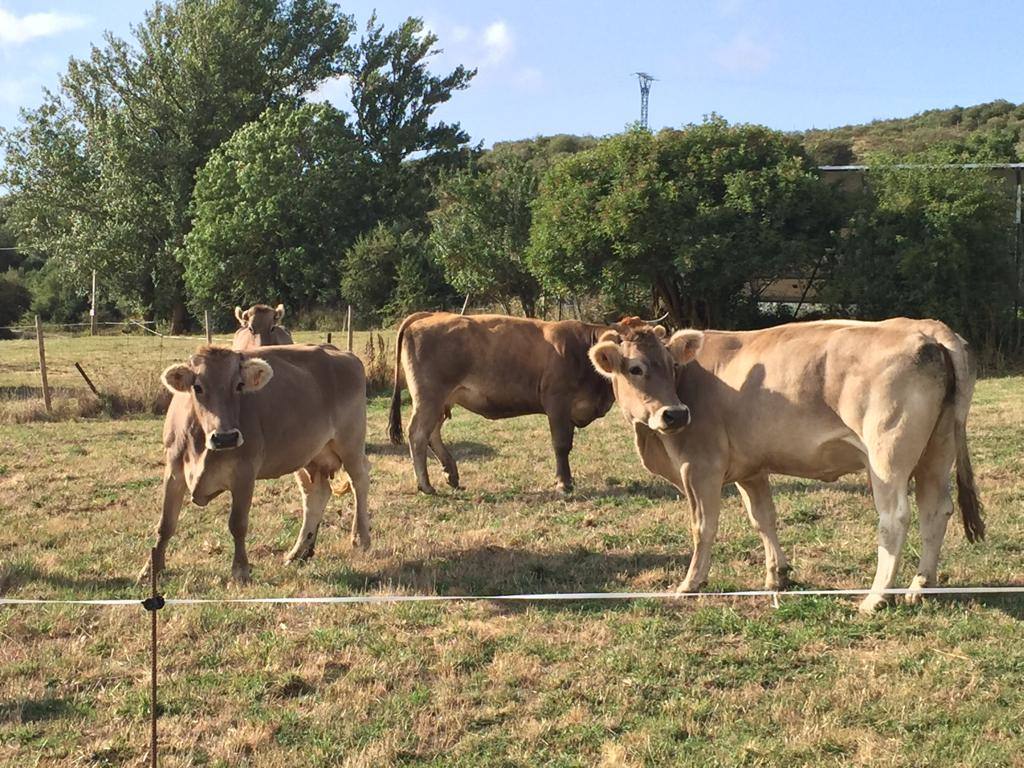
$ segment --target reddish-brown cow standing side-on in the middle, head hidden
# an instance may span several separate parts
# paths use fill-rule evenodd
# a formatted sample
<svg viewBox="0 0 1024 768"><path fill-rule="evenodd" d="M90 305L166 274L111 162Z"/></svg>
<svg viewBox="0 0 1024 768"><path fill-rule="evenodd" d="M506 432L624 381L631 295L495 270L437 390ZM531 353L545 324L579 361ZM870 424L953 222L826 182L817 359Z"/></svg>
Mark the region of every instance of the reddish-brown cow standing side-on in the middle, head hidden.
<svg viewBox="0 0 1024 768"><path fill-rule="evenodd" d="M573 430L604 416L613 401L611 387L587 359L587 350L607 330L501 314L417 312L407 317L398 329L388 431L392 442L401 442L404 378L413 395L409 442L420 490L434 493L427 476L428 444L449 484L459 487L459 469L441 441L441 425L453 406L462 406L486 419L547 414L558 487L571 492Z"/></svg>

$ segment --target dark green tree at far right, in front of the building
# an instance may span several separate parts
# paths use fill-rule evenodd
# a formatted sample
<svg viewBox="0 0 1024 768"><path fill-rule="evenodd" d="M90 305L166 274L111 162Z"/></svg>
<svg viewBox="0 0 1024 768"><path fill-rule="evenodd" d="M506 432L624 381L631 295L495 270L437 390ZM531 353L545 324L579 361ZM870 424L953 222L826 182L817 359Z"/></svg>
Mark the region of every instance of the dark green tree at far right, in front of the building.
<svg viewBox="0 0 1024 768"><path fill-rule="evenodd" d="M1014 199L984 169L948 166L958 158L871 158L821 299L864 319L942 319L991 357L1014 330Z"/></svg>

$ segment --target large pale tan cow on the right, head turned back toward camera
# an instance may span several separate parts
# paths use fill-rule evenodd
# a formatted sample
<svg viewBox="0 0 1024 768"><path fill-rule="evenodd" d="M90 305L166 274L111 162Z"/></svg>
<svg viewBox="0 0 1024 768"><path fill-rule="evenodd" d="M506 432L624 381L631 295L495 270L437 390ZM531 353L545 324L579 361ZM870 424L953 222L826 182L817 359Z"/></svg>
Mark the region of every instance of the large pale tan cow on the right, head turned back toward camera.
<svg viewBox="0 0 1024 768"><path fill-rule="evenodd" d="M788 566L770 474L831 481L868 470L879 562L864 611L883 605L882 591L893 586L911 478L922 536L911 590L936 584L954 461L967 538L984 537L966 428L974 364L966 342L941 323L825 321L672 338L646 326L605 334L590 356L612 383L644 466L689 501L693 557L679 591L698 590L708 578L728 482L764 544L766 588L783 585Z"/></svg>

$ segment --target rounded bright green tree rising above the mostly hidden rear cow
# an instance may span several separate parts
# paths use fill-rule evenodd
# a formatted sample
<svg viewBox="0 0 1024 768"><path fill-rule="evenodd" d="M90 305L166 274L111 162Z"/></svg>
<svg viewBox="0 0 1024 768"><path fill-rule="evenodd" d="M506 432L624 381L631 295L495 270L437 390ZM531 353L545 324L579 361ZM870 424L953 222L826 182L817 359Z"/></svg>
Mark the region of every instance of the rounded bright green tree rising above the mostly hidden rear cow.
<svg viewBox="0 0 1024 768"><path fill-rule="evenodd" d="M367 160L344 113L267 110L200 170L181 260L195 310L334 303L341 258L370 225Z"/></svg>

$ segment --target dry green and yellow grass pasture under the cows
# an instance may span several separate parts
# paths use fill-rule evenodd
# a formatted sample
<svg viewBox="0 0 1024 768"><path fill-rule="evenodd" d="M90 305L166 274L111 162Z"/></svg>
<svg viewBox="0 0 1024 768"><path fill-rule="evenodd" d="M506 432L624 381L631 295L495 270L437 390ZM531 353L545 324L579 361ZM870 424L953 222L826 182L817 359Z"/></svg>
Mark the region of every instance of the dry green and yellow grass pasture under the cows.
<svg viewBox="0 0 1024 768"><path fill-rule="evenodd" d="M136 341L123 358L69 341L65 357L91 354L97 371L124 359L122 379L176 359L127 343ZM182 344L175 354L191 346ZM34 384L23 347L34 352L0 342L0 386ZM404 450L386 442L385 406L371 401L369 551L350 549L349 502L334 500L314 560L284 565L298 494L290 478L266 481L251 517L252 584L227 581L218 499L185 508L165 593L660 590L682 580L685 504L642 469L617 412L579 433L578 493L565 500L543 418L457 411L445 434L467 489L426 498ZM0 424L0 594L140 596L133 578L158 515L160 430L152 416ZM1024 378L980 382L969 432L989 536L971 546L954 519L940 573L957 586L1020 585ZM867 586L876 513L863 479L774 484L798 586ZM709 587L762 580L760 540L727 489ZM778 608L711 598L217 605L160 617L164 766L1024 765L1019 598L931 600L868 617L853 599L825 598ZM141 609L0 608L0 764L139 765L147 633Z"/></svg>

